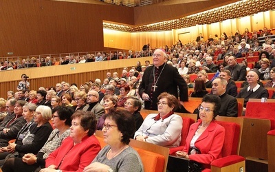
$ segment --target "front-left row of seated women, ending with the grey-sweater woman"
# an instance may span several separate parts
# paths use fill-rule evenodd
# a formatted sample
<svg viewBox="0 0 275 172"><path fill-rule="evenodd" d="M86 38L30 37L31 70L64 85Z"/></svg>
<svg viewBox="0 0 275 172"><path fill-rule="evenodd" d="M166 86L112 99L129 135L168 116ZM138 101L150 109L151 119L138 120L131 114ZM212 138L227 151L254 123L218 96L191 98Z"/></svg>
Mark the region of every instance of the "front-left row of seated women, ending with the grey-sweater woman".
<svg viewBox="0 0 275 172"><path fill-rule="evenodd" d="M129 111L113 109L105 116L108 146L100 151L94 136L97 119L91 111L36 107L14 98L6 107L7 116L0 124L0 171L143 171L139 155L128 146L135 131Z"/></svg>

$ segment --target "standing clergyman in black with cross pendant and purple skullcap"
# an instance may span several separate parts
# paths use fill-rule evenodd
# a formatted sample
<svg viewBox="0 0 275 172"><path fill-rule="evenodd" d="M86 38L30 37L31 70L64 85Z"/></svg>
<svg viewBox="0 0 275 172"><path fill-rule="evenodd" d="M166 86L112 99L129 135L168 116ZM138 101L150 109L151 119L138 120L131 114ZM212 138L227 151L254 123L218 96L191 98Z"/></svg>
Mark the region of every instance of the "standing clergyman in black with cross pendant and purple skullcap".
<svg viewBox="0 0 275 172"><path fill-rule="evenodd" d="M184 78L179 75L177 68L166 65L166 53L157 49L153 54L153 66L145 69L139 87L140 97L144 100L145 109L157 110L157 96L168 92L178 97L181 105L188 101L188 87Z"/></svg>

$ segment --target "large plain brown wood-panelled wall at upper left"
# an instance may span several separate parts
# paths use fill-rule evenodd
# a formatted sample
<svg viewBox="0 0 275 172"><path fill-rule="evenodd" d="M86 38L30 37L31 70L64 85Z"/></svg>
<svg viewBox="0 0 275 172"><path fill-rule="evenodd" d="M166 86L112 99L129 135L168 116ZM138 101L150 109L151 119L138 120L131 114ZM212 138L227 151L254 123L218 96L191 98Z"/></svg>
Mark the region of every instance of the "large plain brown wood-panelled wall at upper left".
<svg viewBox="0 0 275 172"><path fill-rule="evenodd" d="M103 50L102 21L133 24L133 9L47 0L0 0L0 56Z"/></svg>

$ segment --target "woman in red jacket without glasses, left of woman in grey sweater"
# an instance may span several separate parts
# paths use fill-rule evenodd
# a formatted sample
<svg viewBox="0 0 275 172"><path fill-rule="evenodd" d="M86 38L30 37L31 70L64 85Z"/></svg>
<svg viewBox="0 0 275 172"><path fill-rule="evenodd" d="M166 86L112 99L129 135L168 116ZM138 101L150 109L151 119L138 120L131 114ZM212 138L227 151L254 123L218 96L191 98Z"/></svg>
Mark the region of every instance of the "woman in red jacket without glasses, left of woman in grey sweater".
<svg viewBox="0 0 275 172"><path fill-rule="evenodd" d="M61 147L46 159L47 168L41 172L80 172L89 165L100 151L96 131L96 116L90 111L76 111L72 115L71 133L63 140Z"/></svg>

